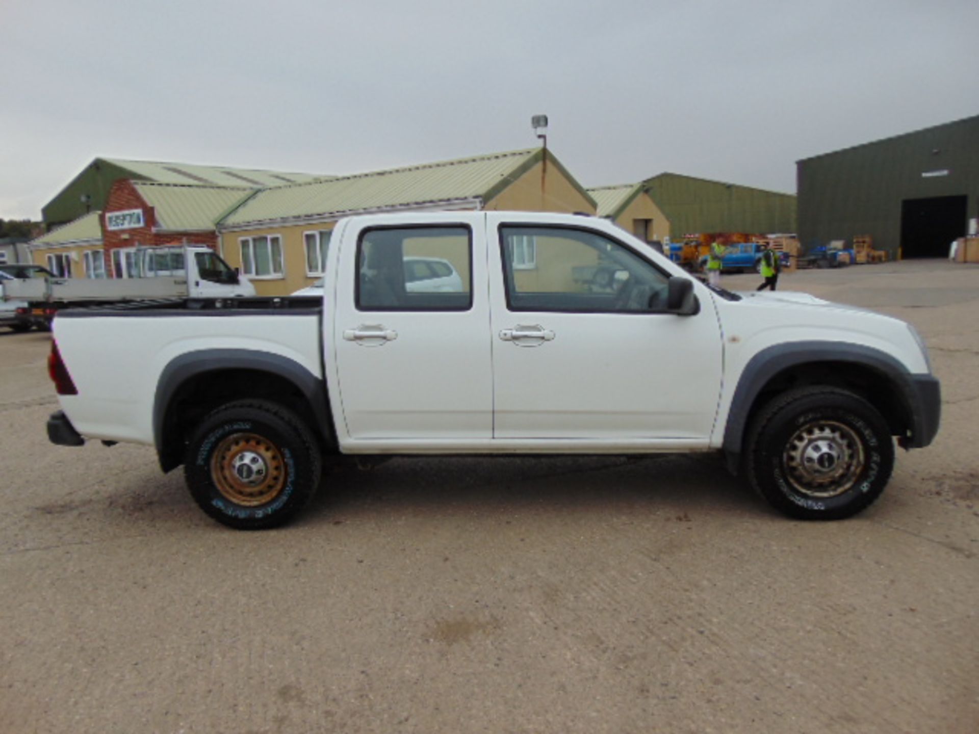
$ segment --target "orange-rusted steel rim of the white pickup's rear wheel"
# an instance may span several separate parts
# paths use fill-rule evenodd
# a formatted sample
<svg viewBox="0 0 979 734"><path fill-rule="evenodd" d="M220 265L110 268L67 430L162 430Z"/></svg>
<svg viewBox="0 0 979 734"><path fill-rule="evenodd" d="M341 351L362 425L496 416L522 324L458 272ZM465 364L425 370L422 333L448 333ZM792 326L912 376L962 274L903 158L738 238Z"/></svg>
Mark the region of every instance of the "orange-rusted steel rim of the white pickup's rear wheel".
<svg viewBox="0 0 979 734"><path fill-rule="evenodd" d="M256 434L225 437L210 458L210 476L224 497L244 507L275 499L288 479L278 447Z"/></svg>

